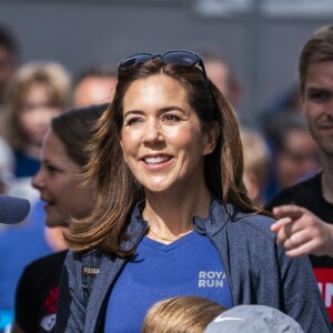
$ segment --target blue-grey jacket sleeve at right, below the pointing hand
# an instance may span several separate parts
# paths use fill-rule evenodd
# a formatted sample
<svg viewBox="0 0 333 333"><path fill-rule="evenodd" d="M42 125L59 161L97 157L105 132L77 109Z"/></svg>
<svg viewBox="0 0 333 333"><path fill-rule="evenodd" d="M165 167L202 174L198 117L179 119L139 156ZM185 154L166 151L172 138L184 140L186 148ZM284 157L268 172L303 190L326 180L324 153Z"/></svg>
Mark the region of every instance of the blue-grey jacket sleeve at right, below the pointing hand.
<svg viewBox="0 0 333 333"><path fill-rule="evenodd" d="M278 249L278 256L285 313L297 321L304 332L333 332L309 258L290 259L283 249Z"/></svg>

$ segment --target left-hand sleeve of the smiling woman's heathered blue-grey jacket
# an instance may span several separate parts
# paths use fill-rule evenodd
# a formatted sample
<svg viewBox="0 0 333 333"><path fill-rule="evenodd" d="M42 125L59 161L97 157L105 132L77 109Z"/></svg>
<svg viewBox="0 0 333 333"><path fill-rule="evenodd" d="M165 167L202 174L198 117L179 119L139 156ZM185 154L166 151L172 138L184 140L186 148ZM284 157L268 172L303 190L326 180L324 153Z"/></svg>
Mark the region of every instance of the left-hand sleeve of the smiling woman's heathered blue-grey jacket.
<svg viewBox="0 0 333 333"><path fill-rule="evenodd" d="M85 304L81 283L81 263L69 251L60 279L56 333L83 332Z"/></svg>

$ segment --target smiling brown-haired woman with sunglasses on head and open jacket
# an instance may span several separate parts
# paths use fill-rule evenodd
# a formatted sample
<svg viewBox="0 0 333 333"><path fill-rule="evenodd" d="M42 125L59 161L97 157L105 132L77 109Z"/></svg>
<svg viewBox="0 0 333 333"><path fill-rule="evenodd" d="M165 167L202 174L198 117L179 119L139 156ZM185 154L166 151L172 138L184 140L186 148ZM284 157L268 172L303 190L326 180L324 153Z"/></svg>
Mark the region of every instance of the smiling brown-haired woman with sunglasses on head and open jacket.
<svg viewBox="0 0 333 333"><path fill-rule="evenodd" d="M85 173L97 202L65 238L57 332L140 332L152 304L189 294L331 332L309 260L276 248L246 193L238 119L200 56L121 61L98 127Z"/></svg>

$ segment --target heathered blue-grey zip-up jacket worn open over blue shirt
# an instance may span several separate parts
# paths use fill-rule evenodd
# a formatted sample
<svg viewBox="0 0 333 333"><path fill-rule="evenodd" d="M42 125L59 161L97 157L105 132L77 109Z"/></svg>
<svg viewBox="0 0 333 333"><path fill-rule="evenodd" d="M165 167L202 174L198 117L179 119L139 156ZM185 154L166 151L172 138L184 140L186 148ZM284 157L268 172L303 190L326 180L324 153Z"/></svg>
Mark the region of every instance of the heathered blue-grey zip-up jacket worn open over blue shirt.
<svg viewBox="0 0 333 333"><path fill-rule="evenodd" d="M147 231L137 205L125 249L139 244ZM234 206L228 212L212 200L210 216L194 218L194 230L205 234L220 253L233 305L262 304L276 307L299 322L305 333L333 332L311 263L307 258L289 259L275 245L270 231L273 220L244 215ZM127 260L102 250L69 251L62 272L56 332L103 332L112 285Z"/></svg>

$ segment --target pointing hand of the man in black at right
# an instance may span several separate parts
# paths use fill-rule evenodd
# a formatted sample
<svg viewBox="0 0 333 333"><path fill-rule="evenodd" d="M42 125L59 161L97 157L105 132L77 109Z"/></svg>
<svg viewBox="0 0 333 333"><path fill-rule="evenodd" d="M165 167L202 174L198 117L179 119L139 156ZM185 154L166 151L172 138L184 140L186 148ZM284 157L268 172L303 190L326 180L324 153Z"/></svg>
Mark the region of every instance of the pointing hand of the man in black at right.
<svg viewBox="0 0 333 333"><path fill-rule="evenodd" d="M286 255L333 256L333 224L294 204L275 206L272 212L279 220L271 230L276 233L276 243L286 250Z"/></svg>

